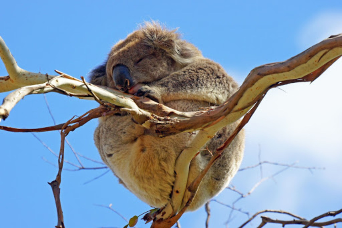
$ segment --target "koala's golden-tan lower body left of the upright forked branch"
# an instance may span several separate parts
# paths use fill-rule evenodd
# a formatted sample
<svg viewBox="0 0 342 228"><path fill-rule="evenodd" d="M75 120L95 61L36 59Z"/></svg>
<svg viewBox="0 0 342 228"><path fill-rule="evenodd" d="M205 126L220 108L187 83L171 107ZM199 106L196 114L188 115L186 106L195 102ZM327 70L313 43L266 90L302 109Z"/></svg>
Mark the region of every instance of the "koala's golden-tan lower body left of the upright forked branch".
<svg viewBox="0 0 342 228"><path fill-rule="evenodd" d="M110 116L100 121L94 139L121 184L147 204L163 207L170 199L176 157L194 135L160 138L144 132L130 115Z"/></svg>

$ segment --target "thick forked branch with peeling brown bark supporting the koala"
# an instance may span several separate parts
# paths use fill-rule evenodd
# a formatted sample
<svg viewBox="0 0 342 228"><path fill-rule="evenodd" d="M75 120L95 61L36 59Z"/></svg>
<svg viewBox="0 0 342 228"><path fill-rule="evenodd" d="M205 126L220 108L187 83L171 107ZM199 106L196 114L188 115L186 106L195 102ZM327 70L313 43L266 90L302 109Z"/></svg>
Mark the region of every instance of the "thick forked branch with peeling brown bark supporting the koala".
<svg viewBox="0 0 342 228"><path fill-rule="evenodd" d="M146 128L147 134L155 136L200 130L176 161L175 173L182 175L176 177L172 196L178 197L173 197L171 203L161 210L160 215L165 220L155 220L152 224L153 227L171 227L185 212L201 180L199 177L193 184L186 186L189 163L198 152L196 148L205 145L223 126L239 120L253 107L252 110L255 110L269 89L288 83L313 81L341 55L342 34L331 36L287 61L254 68L240 89L224 104L198 112L182 113L146 98L132 97L110 88L82 82L62 72L57 72L61 75L55 77L25 71L17 66L5 43L0 39L0 56L9 73L9 76L0 77L0 92L45 83L43 88L29 90L25 94L58 92L79 98L96 97L102 105L108 106L106 108L113 109L115 105L121 107L120 110L130 112L134 120ZM8 117L10 110L21 97L18 92L15 93L14 97L5 98L0 106L0 119ZM75 129L77 126L79 123L68 128ZM216 156L219 156L219 152L213 157ZM215 159L217 158L213 158L213 161ZM174 194L175 191L179 194Z"/></svg>

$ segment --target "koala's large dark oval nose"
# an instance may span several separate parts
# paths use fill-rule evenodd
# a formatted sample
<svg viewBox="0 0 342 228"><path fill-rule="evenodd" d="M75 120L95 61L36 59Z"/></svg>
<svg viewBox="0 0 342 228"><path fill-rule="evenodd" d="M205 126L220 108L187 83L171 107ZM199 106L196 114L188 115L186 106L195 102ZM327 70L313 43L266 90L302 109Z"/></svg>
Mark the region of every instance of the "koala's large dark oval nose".
<svg viewBox="0 0 342 228"><path fill-rule="evenodd" d="M119 64L113 68L113 79L116 88L126 91L133 87L134 82L127 66Z"/></svg>

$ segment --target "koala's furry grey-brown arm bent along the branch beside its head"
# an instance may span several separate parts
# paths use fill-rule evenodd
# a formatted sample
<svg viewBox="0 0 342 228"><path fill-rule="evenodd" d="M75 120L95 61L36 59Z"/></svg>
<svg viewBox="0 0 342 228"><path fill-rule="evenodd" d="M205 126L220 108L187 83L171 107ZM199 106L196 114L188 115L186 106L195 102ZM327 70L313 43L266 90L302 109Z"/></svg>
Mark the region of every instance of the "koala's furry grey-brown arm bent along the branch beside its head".
<svg viewBox="0 0 342 228"><path fill-rule="evenodd" d="M162 103L173 100L198 100L221 104L234 94L237 88L237 83L219 64L203 58L165 78L148 83L141 90L152 90L152 97Z"/></svg>

